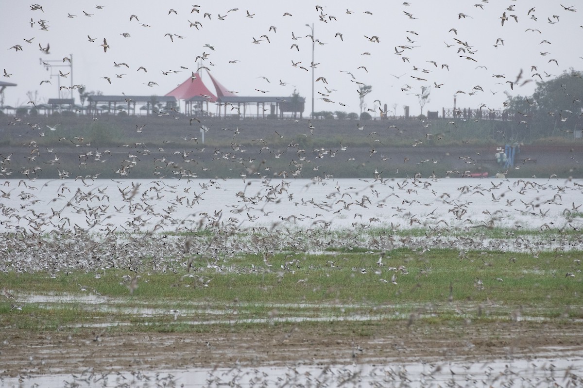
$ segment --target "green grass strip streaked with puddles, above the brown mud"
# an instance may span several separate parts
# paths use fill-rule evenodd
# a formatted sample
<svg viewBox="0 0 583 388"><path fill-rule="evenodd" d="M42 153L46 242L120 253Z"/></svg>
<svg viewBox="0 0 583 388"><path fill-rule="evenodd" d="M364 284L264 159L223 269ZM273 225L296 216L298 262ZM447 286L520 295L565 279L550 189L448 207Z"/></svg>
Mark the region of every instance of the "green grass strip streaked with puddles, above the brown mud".
<svg viewBox="0 0 583 388"><path fill-rule="evenodd" d="M216 264L193 257L189 272L184 265L176 273L9 272L0 275L0 285L15 298L0 296L0 322L32 332L96 324L111 325L109 330L188 332L204 330L201 322L274 324L316 317L436 324L583 318L583 252L535 256L329 248L321 254L241 255Z"/></svg>

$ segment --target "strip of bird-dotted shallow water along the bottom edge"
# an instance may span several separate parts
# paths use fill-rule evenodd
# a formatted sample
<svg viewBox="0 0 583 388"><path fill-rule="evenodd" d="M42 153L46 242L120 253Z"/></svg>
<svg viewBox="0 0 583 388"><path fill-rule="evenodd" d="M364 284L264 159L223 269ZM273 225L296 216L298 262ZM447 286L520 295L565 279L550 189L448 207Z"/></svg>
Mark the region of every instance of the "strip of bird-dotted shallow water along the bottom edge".
<svg viewBox="0 0 583 388"><path fill-rule="evenodd" d="M366 357L366 350L356 357ZM583 357L547 355L499 359L425 359L417 362L387 360L386 364L356 361L350 365L289 365L258 368L189 368L158 372L102 374L86 371L76 375L21 376L3 379L0 387L531 387L582 386Z"/></svg>

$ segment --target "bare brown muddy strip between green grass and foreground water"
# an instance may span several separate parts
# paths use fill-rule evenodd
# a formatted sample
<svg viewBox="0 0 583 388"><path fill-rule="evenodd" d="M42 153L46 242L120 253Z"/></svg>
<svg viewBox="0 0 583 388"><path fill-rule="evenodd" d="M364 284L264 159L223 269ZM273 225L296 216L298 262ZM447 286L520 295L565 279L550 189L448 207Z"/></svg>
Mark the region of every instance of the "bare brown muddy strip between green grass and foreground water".
<svg viewBox="0 0 583 388"><path fill-rule="evenodd" d="M94 371L161 371L277 365L382 365L458 359L573 357L583 354L581 323L342 322L249 327L216 325L205 332L2 332L0 376ZM369 333L368 330L371 330Z"/></svg>

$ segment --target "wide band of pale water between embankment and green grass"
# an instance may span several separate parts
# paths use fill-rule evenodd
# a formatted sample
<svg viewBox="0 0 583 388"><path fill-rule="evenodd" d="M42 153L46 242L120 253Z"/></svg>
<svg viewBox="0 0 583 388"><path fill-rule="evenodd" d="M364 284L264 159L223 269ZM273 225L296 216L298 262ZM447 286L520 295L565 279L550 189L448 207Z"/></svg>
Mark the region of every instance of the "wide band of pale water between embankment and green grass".
<svg viewBox="0 0 583 388"><path fill-rule="evenodd" d="M568 213L583 198L583 180L558 179L6 182L0 227L42 232L75 225L92 232L175 232L212 223L243 229L328 223L339 229L360 223L546 229L568 227Z"/></svg>

